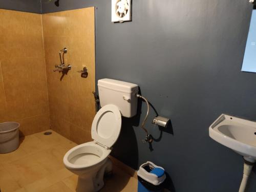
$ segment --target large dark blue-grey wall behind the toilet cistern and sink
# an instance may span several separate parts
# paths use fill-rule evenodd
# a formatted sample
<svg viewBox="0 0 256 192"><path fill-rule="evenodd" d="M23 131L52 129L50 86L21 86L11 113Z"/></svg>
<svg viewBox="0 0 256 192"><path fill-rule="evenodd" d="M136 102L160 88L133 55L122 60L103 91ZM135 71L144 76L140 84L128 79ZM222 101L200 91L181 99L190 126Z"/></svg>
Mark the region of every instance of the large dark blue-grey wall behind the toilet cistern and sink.
<svg viewBox="0 0 256 192"><path fill-rule="evenodd" d="M133 21L111 23L111 0L42 2L42 12L96 6L96 77L139 84L172 129L123 118L113 156L137 168L163 166L177 192L238 191L243 159L208 136L222 113L256 119L256 74L241 72L252 5L247 0L136 0ZM173 132L173 133L172 133ZM248 192L256 190L255 169Z"/></svg>

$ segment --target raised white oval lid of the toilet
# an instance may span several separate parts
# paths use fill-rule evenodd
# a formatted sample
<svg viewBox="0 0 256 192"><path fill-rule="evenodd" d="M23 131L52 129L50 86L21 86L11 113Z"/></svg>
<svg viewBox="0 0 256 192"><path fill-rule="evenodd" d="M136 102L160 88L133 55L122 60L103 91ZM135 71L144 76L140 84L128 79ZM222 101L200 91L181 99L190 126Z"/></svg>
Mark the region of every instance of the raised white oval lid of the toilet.
<svg viewBox="0 0 256 192"><path fill-rule="evenodd" d="M116 105L103 106L93 119L92 139L110 148L119 137L121 122L121 113Z"/></svg>

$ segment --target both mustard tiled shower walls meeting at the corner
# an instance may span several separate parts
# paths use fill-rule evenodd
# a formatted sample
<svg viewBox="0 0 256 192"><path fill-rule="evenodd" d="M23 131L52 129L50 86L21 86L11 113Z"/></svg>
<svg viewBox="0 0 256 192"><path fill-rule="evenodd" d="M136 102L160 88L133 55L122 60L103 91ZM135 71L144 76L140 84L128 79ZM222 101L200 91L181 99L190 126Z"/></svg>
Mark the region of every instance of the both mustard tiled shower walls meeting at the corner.
<svg viewBox="0 0 256 192"><path fill-rule="evenodd" d="M94 7L42 15L0 9L0 18L0 122L19 122L22 135L51 127L76 143L91 140ZM64 47L72 69L53 72Z"/></svg>

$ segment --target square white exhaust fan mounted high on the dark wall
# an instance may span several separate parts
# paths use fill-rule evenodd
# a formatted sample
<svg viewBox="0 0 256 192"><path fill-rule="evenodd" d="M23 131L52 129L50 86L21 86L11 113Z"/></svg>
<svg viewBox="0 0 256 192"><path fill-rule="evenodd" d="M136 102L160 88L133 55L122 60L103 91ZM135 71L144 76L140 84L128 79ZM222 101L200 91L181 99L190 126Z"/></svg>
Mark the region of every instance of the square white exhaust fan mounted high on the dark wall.
<svg viewBox="0 0 256 192"><path fill-rule="evenodd" d="M127 22L131 15L131 0L112 0L112 22Z"/></svg>

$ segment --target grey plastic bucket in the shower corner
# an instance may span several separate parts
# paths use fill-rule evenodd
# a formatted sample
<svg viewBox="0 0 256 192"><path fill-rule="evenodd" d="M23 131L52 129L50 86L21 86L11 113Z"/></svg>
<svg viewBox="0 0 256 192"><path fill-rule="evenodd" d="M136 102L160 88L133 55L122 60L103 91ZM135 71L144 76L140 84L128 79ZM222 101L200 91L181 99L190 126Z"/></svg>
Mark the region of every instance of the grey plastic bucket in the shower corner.
<svg viewBox="0 0 256 192"><path fill-rule="evenodd" d="M0 123L0 154L10 153L18 148L18 127L17 122Z"/></svg>

